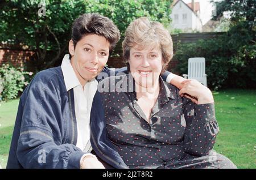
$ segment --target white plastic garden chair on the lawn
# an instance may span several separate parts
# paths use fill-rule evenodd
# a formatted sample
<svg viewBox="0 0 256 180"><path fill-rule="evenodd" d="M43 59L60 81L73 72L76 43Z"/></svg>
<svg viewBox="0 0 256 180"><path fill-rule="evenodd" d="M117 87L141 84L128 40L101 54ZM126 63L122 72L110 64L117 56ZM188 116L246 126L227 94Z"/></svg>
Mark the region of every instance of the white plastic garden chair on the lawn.
<svg viewBox="0 0 256 180"><path fill-rule="evenodd" d="M189 58L188 74L183 74L185 79L196 79L207 87L207 74L205 74L205 58Z"/></svg>

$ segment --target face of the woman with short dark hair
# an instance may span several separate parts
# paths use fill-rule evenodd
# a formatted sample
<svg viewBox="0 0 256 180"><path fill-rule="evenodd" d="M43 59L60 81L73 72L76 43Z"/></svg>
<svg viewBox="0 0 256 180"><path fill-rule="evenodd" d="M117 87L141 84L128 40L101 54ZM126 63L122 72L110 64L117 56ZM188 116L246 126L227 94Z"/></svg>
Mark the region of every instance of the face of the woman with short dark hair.
<svg viewBox="0 0 256 180"><path fill-rule="evenodd" d="M106 38L98 35L82 37L77 42L76 48L72 40L69 42L71 65L82 85L102 71L108 61L109 47L110 44Z"/></svg>

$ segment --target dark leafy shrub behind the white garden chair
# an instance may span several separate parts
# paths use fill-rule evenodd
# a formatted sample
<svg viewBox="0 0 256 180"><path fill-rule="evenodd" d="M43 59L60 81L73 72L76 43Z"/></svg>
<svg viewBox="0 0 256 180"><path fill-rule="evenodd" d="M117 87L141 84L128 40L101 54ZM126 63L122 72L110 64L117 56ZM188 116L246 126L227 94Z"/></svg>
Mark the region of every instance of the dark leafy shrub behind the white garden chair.
<svg viewBox="0 0 256 180"><path fill-rule="evenodd" d="M250 36L245 38L226 33L215 39L177 44L174 59L178 63L174 71L187 74L188 58L204 57L210 88L255 88L256 45L255 42L250 45Z"/></svg>

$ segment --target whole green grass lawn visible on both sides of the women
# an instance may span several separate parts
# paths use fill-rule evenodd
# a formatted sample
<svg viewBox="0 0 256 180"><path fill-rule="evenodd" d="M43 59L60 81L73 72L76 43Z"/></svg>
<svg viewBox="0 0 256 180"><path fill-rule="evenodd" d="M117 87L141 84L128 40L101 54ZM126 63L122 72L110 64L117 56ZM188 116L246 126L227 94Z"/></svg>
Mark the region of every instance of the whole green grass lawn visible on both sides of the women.
<svg viewBox="0 0 256 180"><path fill-rule="evenodd" d="M214 149L238 168L256 168L256 90L229 89L214 92L220 126ZM0 106L0 164L6 167L19 100Z"/></svg>

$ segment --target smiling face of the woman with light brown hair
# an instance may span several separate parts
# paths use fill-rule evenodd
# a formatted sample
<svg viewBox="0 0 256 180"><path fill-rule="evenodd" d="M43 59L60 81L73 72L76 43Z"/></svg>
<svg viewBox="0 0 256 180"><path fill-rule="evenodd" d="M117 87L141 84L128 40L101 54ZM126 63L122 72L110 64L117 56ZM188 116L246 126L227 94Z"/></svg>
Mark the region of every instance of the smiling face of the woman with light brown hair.
<svg viewBox="0 0 256 180"><path fill-rule="evenodd" d="M158 46L139 49L135 45L130 50L130 71L135 83L142 87L152 87L159 80L163 66L162 52Z"/></svg>

